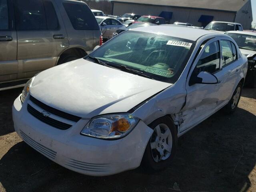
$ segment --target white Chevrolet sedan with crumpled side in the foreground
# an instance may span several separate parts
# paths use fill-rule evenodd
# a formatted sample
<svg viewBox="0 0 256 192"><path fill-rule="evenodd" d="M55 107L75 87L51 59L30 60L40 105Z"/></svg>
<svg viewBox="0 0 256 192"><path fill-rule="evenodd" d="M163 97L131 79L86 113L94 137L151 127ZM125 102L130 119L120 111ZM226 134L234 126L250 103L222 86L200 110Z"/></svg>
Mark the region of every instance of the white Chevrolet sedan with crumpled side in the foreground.
<svg viewBox="0 0 256 192"><path fill-rule="evenodd" d="M236 110L247 68L227 35L134 28L30 79L14 101L14 128L32 148L82 174L140 164L159 171L181 135L221 108Z"/></svg>

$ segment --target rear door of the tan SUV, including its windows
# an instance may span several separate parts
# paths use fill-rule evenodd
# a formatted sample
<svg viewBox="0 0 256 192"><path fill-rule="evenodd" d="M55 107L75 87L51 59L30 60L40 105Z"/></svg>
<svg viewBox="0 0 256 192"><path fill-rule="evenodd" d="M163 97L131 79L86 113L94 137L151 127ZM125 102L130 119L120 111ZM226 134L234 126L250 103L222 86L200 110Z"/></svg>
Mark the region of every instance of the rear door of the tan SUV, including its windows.
<svg viewBox="0 0 256 192"><path fill-rule="evenodd" d="M55 66L68 48L68 37L50 0L14 0L18 37L19 78L29 78Z"/></svg>

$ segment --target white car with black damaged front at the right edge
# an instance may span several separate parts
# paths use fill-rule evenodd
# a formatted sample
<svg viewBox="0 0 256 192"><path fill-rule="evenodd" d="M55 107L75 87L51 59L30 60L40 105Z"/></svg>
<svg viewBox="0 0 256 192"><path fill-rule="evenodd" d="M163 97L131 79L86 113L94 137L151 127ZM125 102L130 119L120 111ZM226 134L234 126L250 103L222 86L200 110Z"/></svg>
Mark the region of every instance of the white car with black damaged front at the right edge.
<svg viewBox="0 0 256 192"><path fill-rule="evenodd" d="M256 87L256 33L247 31L228 31L225 34L232 37L242 54L248 58L248 72L245 84Z"/></svg>

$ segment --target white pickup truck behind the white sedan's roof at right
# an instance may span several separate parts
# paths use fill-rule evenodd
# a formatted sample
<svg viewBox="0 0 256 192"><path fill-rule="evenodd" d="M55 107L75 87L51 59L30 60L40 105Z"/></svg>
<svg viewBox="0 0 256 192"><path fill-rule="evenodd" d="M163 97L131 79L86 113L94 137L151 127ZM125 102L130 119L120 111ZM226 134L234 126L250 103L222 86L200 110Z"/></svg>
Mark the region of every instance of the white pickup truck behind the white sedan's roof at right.
<svg viewBox="0 0 256 192"><path fill-rule="evenodd" d="M211 30L217 33L224 33L226 31L243 31L243 27L240 23L224 21L212 21L204 29Z"/></svg>

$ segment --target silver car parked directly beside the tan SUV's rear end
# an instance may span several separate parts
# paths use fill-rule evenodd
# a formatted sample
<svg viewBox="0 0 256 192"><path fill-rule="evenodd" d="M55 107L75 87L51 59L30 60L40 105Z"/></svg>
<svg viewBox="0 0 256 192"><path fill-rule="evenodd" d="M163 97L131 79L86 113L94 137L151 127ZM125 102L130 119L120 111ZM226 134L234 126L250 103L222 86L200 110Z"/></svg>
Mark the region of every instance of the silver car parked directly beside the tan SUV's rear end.
<svg viewBox="0 0 256 192"><path fill-rule="evenodd" d="M118 28L125 27L120 21L104 16L96 16L103 38L110 39Z"/></svg>

